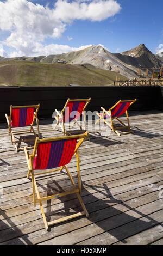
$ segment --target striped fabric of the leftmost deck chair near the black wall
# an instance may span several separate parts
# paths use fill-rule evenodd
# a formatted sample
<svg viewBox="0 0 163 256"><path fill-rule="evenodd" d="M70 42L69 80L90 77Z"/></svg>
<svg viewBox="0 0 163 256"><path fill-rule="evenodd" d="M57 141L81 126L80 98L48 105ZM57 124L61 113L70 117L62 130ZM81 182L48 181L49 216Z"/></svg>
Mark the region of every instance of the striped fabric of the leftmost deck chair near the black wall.
<svg viewBox="0 0 163 256"><path fill-rule="evenodd" d="M11 127L24 127L32 124L34 108L13 108Z"/></svg>

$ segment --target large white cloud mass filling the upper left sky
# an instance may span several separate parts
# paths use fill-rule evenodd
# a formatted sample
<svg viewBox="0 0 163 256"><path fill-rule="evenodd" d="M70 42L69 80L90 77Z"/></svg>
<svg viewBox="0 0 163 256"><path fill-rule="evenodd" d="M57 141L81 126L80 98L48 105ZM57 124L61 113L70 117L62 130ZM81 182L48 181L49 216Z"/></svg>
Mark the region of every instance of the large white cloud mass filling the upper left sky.
<svg viewBox="0 0 163 256"><path fill-rule="evenodd" d="M43 47L45 39L60 38L66 26L74 20L102 21L120 9L115 0L57 0L52 9L27 0L6 0L0 2L0 29L10 32L10 35L3 45L15 49L11 55L34 56L41 49L49 52L52 45ZM57 49L57 45L52 48Z"/></svg>

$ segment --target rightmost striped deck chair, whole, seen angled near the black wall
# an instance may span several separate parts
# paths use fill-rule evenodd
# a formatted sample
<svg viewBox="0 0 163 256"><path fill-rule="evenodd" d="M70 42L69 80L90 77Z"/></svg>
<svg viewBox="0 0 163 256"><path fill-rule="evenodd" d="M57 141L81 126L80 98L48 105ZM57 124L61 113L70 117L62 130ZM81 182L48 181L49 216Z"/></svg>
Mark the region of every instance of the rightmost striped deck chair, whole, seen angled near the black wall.
<svg viewBox="0 0 163 256"><path fill-rule="evenodd" d="M99 121L104 121L106 125L108 125L112 131L114 131L118 136L127 134L127 133L133 133L133 131L130 129L130 123L129 123L129 117L128 117L128 108L131 106L135 100L119 100L113 107L109 108L108 111L106 111L103 107L101 109L103 110L102 114L96 113L99 117L99 119L96 121L95 124L97 124ZM126 113L127 117L127 123L128 125L124 124L118 117ZM110 123L108 122L108 119L110 119ZM117 127L120 129L127 129L126 132L118 132L116 130L116 126L113 124L113 120L116 119L122 126Z"/></svg>

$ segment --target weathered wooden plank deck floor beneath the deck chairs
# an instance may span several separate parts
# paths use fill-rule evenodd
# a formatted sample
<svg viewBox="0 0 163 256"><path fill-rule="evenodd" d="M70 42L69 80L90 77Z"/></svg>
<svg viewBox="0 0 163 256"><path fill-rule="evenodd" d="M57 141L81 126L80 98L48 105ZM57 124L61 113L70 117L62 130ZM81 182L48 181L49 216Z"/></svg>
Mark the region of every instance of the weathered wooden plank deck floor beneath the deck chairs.
<svg viewBox="0 0 163 256"><path fill-rule="evenodd" d="M130 116L134 135L90 132L80 148L82 198L90 217L45 230L39 205L32 203L24 152L11 146L0 126L0 245L163 245L163 113ZM43 137L59 136L51 120L40 121ZM75 159L70 170L76 179ZM37 178L41 196L67 190L64 172ZM162 193L163 196L163 193ZM74 195L43 204L48 221L80 210Z"/></svg>

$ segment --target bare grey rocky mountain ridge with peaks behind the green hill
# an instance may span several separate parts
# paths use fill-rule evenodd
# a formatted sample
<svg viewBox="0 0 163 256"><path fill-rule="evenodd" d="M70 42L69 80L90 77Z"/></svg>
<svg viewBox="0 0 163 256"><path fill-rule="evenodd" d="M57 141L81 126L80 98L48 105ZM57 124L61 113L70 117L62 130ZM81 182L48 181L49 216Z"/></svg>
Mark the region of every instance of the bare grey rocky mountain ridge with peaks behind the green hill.
<svg viewBox="0 0 163 256"><path fill-rule="evenodd" d="M80 51L72 51L68 53L39 56L39 57L18 57L4 58L0 57L0 61L4 60L30 60L41 63L58 63L58 60L64 60L67 64L82 65L89 63L96 68L111 70L128 78L137 78L137 69L163 67L163 57L153 54L144 44L122 53L111 53L100 45L92 45Z"/></svg>

